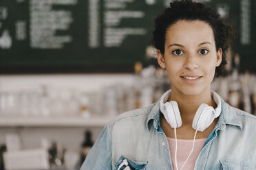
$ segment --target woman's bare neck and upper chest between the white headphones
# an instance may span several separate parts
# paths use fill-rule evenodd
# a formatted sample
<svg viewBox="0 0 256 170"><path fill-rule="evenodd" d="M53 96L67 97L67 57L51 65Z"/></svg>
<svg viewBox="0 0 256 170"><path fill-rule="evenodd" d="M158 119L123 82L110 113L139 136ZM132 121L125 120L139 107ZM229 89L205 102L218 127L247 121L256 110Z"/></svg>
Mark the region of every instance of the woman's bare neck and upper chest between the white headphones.
<svg viewBox="0 0 256 170"><path fill-rule="evenodd" d="M215 101L211 97L211 88L204 90L196 95L186 95L177 89L171 89L171 97L169 101L177 101L182 117L182 123L192 123L195 112L201 104L208 104L216 108Z"/></svg>

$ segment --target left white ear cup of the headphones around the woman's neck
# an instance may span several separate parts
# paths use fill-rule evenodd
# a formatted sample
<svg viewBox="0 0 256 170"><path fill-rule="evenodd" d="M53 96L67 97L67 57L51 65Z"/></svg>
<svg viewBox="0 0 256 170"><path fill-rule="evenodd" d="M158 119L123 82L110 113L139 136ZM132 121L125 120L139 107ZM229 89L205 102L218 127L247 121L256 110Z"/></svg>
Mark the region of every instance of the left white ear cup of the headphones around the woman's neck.
<svg viewBox="0 0 256 170"><path fill-rule="evenodd" d="M180 110L178 108L178 104L176 101L170 101L166 102L164 104L164 107L166 108L166 113L164 113L164 118L167 120L169 125L171 125L172 128L180 127L182 126L182 119L180 117Z"/></svg>

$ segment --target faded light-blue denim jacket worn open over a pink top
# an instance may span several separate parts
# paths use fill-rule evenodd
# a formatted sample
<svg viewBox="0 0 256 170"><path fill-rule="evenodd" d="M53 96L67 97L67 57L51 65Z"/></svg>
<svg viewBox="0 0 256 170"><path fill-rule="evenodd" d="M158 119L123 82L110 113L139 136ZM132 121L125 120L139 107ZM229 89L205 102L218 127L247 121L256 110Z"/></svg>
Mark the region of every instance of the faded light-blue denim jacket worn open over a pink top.
<svg viewBox="0 0 256 170"><path fill-rule="evenodd" d="M222 99L219 120L200 151L195 169L256 169L255 143L256 117ZM110 121L81 170L118 170L125 159L131 169L173 169L167 136L160 127L159 101Z"/></svg>

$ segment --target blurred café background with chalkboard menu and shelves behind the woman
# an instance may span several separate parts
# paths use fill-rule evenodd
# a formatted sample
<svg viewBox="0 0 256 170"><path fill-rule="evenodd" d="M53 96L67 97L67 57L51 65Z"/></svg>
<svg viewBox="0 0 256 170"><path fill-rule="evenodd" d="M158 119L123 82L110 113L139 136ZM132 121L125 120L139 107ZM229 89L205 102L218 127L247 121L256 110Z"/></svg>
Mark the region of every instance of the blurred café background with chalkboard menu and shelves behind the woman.
<svg viewBox="0 0 256 170"><path fill-rule="evenodd" d="M212 89L256 114L256 1L201 0L233 25ZM79 169L108 121L170 88L151 46L170 0L0 1L0 170Z"/></svg>

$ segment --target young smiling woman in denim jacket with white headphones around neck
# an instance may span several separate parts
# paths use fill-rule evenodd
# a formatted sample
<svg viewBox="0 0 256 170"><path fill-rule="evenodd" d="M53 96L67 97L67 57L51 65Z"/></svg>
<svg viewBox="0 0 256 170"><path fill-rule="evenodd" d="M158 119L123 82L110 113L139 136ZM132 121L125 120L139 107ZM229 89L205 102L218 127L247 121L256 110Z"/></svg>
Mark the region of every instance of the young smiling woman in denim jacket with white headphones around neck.
<svg viewBox="0 0 256 170"><path fill-rule="evenodd" d="M153 31L171 90L109 122L81 170L256 169L256 118L211 91L226 64L229 32L212 8L171 3Z"/></svg>

